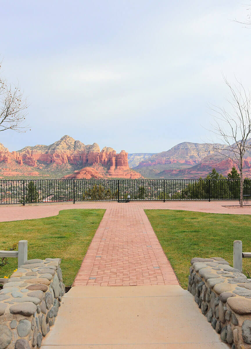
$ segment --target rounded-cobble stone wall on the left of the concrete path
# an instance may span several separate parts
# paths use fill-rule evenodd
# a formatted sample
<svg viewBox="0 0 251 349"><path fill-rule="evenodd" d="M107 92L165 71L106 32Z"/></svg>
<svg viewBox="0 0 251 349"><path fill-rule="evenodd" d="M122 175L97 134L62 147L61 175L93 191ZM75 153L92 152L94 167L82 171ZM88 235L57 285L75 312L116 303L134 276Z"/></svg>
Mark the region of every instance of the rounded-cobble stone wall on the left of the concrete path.
<svg viewBox="0 0 251 349"><path fill-rule="evenodd" d="M0 290L0 349L40 348L65 287L60 258L28 260Z"/></svg>

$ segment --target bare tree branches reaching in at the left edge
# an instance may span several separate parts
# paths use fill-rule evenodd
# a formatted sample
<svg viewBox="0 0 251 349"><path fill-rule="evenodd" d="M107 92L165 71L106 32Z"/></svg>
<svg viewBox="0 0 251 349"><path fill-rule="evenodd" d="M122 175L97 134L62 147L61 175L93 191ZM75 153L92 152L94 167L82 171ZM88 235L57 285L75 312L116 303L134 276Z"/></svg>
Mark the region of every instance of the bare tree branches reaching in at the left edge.
<svg viewBox="0 0 251 349"><path fill-rule="evenodd" d="M0 62L1 68L1 62ZM0 77L0 131L12 129L25 132L24 120L27 115L27 103L19 86L12 86Z"/></svg>

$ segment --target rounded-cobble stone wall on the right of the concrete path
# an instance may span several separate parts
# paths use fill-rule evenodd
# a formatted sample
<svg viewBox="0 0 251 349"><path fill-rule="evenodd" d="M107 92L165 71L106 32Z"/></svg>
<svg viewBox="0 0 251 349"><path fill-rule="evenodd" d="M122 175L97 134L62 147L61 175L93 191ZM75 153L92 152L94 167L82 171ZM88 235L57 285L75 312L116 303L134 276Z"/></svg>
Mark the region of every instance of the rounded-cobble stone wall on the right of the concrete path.
<svg viewBox="0 0 251 349"><path fill-rule="evenodd" d="M218 257L191 260L188 291L232 349L251 348L251 279Z"/></svg>

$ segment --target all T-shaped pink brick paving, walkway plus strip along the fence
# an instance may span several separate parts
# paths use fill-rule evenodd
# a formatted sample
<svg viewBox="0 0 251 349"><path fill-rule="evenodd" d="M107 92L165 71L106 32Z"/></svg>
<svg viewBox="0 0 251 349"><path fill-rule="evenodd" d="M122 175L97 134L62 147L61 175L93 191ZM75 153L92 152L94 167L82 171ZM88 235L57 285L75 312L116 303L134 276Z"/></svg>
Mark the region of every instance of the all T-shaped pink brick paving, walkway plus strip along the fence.
<svg viewBox="0 0 251 349"><path fill-rule="evenodd" d="M209 213L251 214L236 202L83 202L73 205L1 206L0 221L57 215L62 209L105 208L74 285L177 285L178 281L144 209L182 209ZM97 257L101 256L101 257ZM90 279L90 277L95 279Z"/></svg>

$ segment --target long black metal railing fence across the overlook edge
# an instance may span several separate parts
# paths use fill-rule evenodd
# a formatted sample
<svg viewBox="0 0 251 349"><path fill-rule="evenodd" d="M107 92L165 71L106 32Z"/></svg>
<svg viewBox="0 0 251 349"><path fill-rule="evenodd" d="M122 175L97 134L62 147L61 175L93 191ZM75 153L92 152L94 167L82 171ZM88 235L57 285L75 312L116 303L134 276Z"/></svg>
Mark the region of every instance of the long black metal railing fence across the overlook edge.
<svg viewBox="0 0 251 349"><path fill-rule="evenodd" d="M251 194L251 179L243 193ZM239 179L0 180L0 204L130 200L239 200Z"/></svg>

